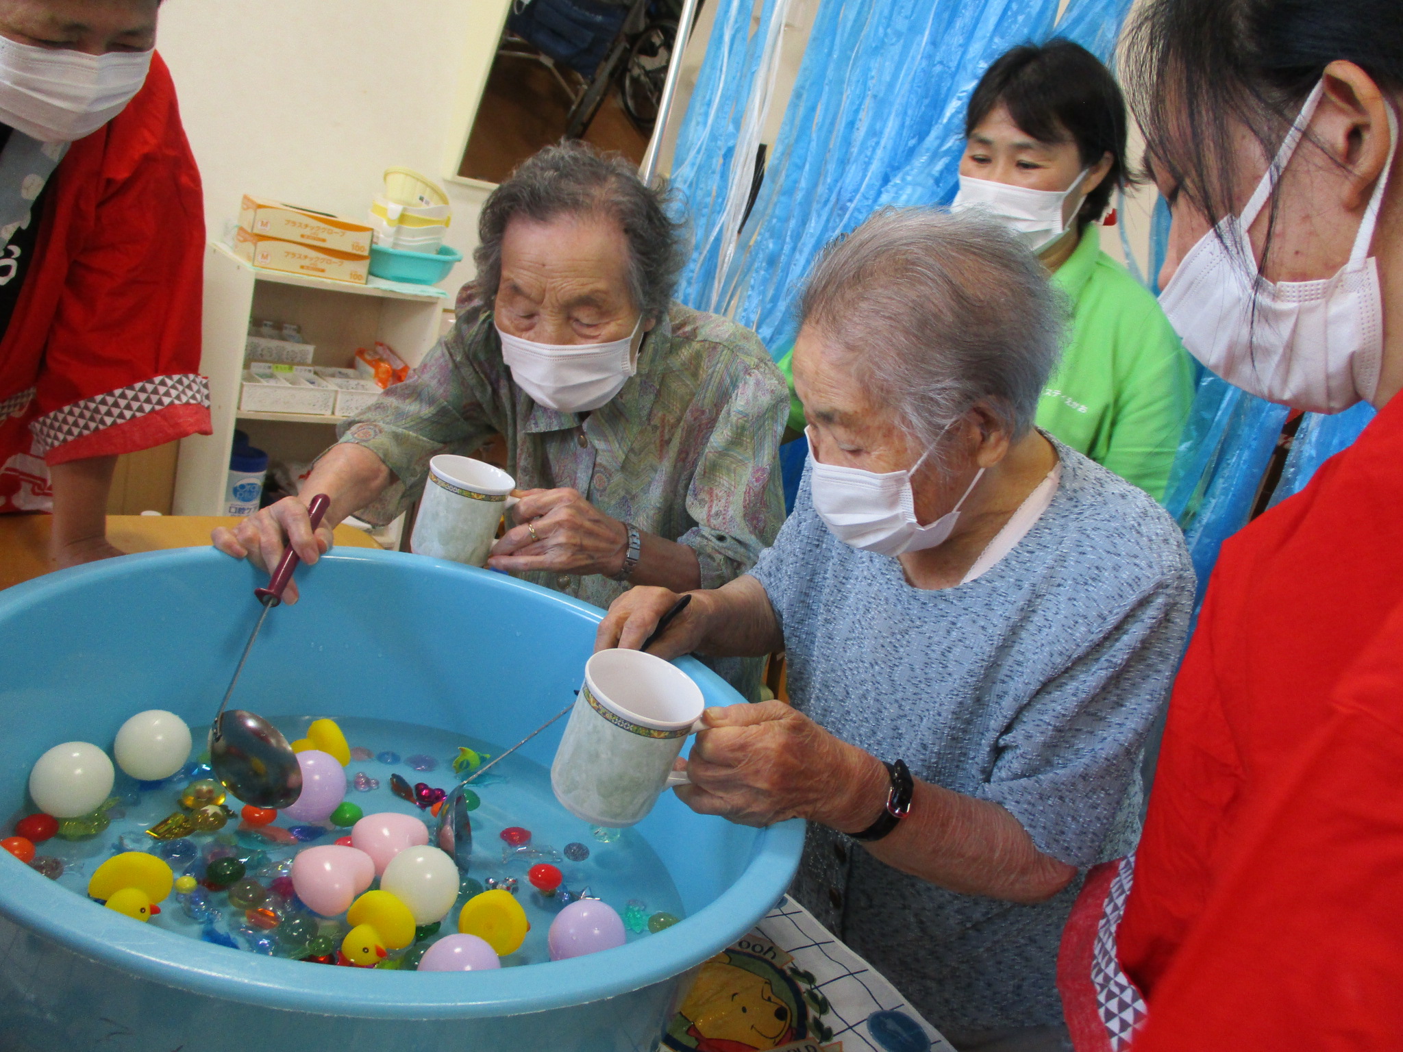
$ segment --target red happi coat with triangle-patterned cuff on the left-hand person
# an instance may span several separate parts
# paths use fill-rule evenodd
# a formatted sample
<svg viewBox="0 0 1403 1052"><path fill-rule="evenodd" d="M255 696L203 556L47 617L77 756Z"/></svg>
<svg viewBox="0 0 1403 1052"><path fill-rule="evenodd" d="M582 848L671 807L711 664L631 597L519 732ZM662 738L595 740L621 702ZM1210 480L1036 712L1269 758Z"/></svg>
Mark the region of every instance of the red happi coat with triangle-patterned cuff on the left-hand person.
<svg viewBox="0 0 1403 1052"><path fill-rule="evenodd" d="M0 341L0 512L49 508L46 464L210 433L203 199L159 55L51 182Z"/></svg>

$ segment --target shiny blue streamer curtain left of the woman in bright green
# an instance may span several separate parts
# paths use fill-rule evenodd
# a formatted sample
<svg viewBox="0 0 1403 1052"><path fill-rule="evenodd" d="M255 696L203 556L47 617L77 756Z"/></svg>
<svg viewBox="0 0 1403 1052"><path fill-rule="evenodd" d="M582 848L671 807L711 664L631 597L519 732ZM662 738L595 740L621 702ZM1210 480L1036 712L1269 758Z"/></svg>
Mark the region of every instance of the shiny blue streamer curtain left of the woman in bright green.
<svg viewBox="0 0 1403 1052"><path fill-rule="evenodd" d="M1128 7L1072 0L1056 31L1108 59ZM948 203L969 93L1005 50L1054 32L1056 8L822 0L759 198L737 233L737 188L748 189L755 163L753 140L737 140L767 104L783 0L718 0L673 166L694 231L678 299L731 314L772 351L787 345L794 296L828 241L884 205Z"/></svg>

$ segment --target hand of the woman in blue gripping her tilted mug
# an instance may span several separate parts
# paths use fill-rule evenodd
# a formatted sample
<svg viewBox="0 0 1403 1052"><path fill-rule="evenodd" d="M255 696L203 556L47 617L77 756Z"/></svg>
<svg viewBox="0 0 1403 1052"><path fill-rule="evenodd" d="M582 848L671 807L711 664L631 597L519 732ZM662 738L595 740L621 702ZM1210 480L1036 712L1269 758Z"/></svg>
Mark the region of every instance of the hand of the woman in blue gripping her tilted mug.
<svg viewBox="0 0 1403 1052"><path fill-rule="evenodd" d="M746 826L804 818L854 832L887 800L887 769L783 701L709 708L676 794L702 815Z"/></svg>

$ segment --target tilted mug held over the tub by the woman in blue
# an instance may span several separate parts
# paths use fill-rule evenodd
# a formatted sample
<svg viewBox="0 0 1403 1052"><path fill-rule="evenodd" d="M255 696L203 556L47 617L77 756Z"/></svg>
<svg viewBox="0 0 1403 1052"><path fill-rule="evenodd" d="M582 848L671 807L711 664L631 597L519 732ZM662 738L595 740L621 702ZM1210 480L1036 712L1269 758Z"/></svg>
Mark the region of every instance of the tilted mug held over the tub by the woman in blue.
<svg viewBox="0 0 1403 1052"><path fill-rule="evenodd" d="M686 783L672 762L702 729L702 689L676 665L643 651L599 651L585 662L550 767L556 800L596 826L631 826L668 785Z"/></svg>

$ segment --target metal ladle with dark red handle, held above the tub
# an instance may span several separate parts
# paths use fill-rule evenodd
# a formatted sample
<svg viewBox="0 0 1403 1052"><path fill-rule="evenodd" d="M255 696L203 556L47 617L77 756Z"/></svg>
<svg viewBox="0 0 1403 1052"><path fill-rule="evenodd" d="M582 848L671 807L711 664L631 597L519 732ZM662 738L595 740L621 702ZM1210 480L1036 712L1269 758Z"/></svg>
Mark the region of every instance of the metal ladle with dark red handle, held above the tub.
<svg viewBox="0 0 1403 1052"><path fill-rule="evenodd" d="M317 494L307 505L311 518L311 529L321 525L331 498ZM244 655L239 659L234 677L229 682L224 700L215 713L215 722L209 727L209 766L215 770L215 777L246 804L260 808L290 807L302 795L302 766L297 763L297 753L288 745L282 732L255 713L244 708L230 708L229 699L239 683L239 673L244 670L248 652L254 648L254 640L262 630L262 623L268 612L282 603L282 593L292 581L292 571L296 569L300 558L289 544L278 567L272 572L267 588L255 588L254 595L262 603L258 623L248 637Z"/></svg>

